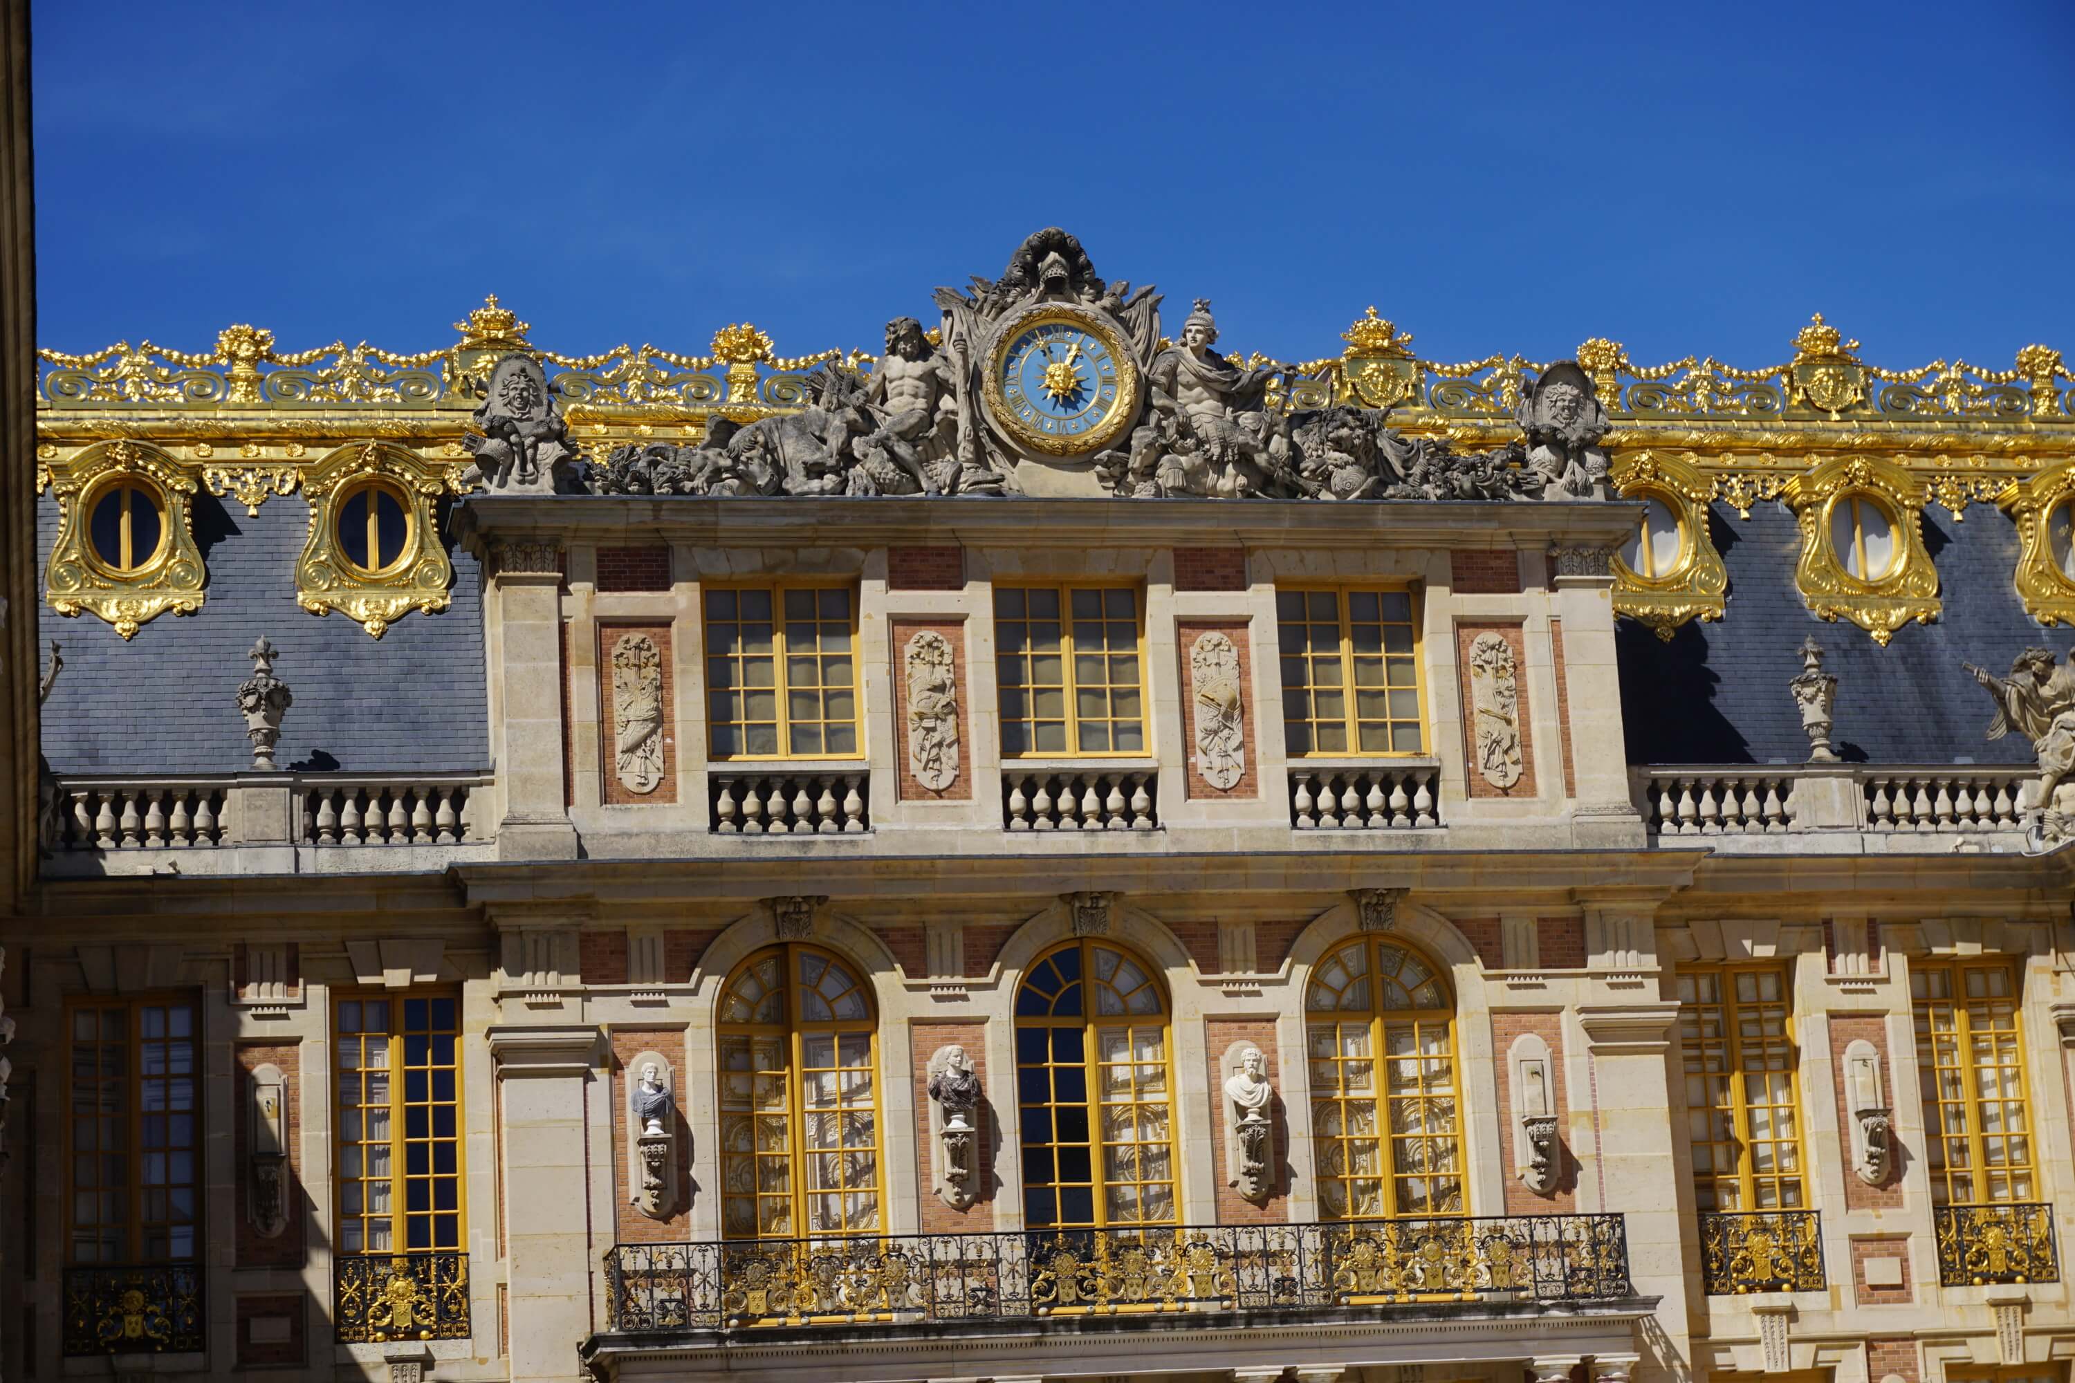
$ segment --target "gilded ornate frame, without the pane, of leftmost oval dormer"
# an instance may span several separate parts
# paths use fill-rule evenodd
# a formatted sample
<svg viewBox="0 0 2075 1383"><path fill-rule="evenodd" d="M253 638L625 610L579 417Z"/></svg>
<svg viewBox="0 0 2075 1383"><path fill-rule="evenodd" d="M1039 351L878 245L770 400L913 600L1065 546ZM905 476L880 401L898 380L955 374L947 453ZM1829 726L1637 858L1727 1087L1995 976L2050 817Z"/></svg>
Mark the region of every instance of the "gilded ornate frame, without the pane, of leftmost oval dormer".
<svg viewBox="0 0 2075 1383"><path fill-rule="evenodd" d="M114 624L125 643L168 610L201 610L210 572L195 545L195 467L147 442L116 440L48 462L48 479L58 500L58 535L44 564L44 599L52 610L62 616L89 610ZM120 481L156 491L164 504L158 552L131 570L102 562L89 533L91 504Z"/></svg>

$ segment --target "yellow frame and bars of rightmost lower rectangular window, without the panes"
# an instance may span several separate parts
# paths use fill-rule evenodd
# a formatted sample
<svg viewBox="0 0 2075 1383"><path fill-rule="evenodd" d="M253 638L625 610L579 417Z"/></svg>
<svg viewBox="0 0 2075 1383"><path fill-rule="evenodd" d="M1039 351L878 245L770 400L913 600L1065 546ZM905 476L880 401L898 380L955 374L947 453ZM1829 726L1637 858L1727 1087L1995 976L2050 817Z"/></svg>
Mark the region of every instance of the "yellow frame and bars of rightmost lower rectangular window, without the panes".
<svg viewBox="0 0 2075 1383"><path fill-rule="evenodd" d="M1996 1028L1996 1026L1977 1028L1975 1016L1969 1012L1971 1010L1971 1001L1967 999L1967 993L1965 993L1967 975L1971 975L1971 972L1998 972L1998 970L2011 983L2011 993L2009 993L2011 1026L2009 1028ZM1948 977L1946 997L1932 999L1932 997L1919 995L1917 993L1917 977L1921 975L1921 977L1928 979L1930 975L1940 975L1940 972ZM1911 960L1909 962L1909 1018L1911 1018L1911 1028L1913 1028L1915 1039L1917 1039L1917 1082L1919 1082L1919 1099L1924 1101L1924 1124L1926 1124L1926 1128L1924 1128L1924 1132L1926 1132L1924 1169L1930 1174L1930 1182L1932 1182L1932 1205L2027 1205L2027 1203L2044 1201L2046 1198L2046 1196L2040 1194L2040 1167L2038 1167L2038 1149L2036 1149L2038 1134L2031 1128L2031 1124L2034 1124L2034 1103L2031 1103L2031 1072L2027 1070L2027 1062L2025 1062L2025 1004L2023 1004L2023 995L2025 995L2025 975L2009 958L2000 958L1998 956L1998 958L1992 958L1992 960ZM1982 1001L1986 1004L1986 1001L1994 1001L1994 999L1996 999L1996 995L1984 995ZM1938 1008L1944 1008L1944 1010L1951 1012L1951 1022L1953 1022L1953 1026L1951 1026L1951 1033L1953 1033L1951 1049L1959 1055L1959 1060L1955 1064L1946 1064L1946 1066L1942 1066L1938 1062L1938 1049L1930 1041L1932 1035L1936 1033L1936 1028L1932 1024L1936 1020L1934 1010L1938 1010ZM2013 1101L2007 1099L2007 1097L1986 1097L1982 1093L1982 1062L1977 1060L1977 1043L1980 1043L1982 1037L1988 1037L1992 1043L2007 1045L2007 1049L2011 1053L2009 1066L1998 1066L1998 1070L2015 1070L2017 1072L2017 1099L2015 1099L2015 1103L2017 1103L2017 1113L2019 1113L2019 1120L2021 1120L2021 1126L2017 1130L2011 1130L2009 1122L2007 1122L2009 1120L2009 1105ZM1951 1072L1953 1076L1957 1076L1959 1097L1946 1099L1946 1089L1948 1086L1940 1084L1940 1072ZM1982 1128L1982 1124L1984 1124L1982 1111L1990 1103L2004 1105L2004 1111L2002 1111L2004 1128L2002 1128L2000 1134L1994 1134L1994 1136L2002 1138L2004 1147L2009 1147L2009 1142L2013 1138L2019 1140L2023 1145L2023 1149L2025 1149L2025 1159L2023 1161L2004 1161L2004 1163L1998 1163L1998 1165L1990 1165L1986 1161L1986 1153L1988 1153L1986 1145L1988 1145L1988 1138L1992 1134L1986 1134L1984 1128ZM1953 1155L1951 1155L1951 1145L1955 1142L1955 1138L1944 1132L1944 1122L1942 1122L1944 1109L1955 1107L1955 1105L1959 1109L1963 1109L1965 1118L1967 1118L1967 1122L1965 1122L1965 1134L1959 1138L1959 1142L1967 1151L1967 1163L1965 1163L1965 1167L1959 1167L1959 1172L1963 1176L1967 1176L1975 1184L1975 1192L1971 1196L1967 1196L1965 1201L1955 1201L1953 1198L1955 1163L1953 1163ZM2000 1194L2000 1196L1998 1194L1984 1194L1982 1186L1986 1182L1992 1184L1992 1182L1998 1182L1998 1180L2004 1186L2009 1186L2011 1182L2023 1182L2029 1190L2023 1196L2017 1196L2017 1194Z"/></svg>

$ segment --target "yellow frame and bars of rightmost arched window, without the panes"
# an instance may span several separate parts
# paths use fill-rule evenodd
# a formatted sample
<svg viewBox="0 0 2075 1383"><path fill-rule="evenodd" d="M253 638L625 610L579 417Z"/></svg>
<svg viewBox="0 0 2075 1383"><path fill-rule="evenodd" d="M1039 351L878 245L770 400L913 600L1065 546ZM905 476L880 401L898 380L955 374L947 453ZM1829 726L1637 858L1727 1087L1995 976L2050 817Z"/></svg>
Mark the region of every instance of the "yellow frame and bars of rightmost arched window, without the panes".
<svg viewBox="0 0 2075 1383"><path fill-rule="evenodd" d="M1367 968L1363 970L1363 975L1351 977L1349 983L1367 983L1370 985L1370 1004L1367 1004L1367 1008L1365 1010L1361 1010L1361 1008L1311 1008L1311 985L1313 983L1324 983L1324 981L1318 979L1318 970L1322 970L1328 960L1338 958L1343 952L1347 952L1355 943L1359 943L1363 948L1363 964ZM1432 1008L1386 1008L1384 1001L1382 1001L1382 989L1384 987L1380 983L1382 977L1386 975L1386 970L1382 968L1380 952L1386 945L1405 952L1407 958L1417 960L1421 966L1426 966L1426 970L1430 972L1432 981L1436 983L1436 989L1448 999L1448 1004L1444 1004L1444 1006L1432 1006ZM1396 977L1392 975L1390 979L1396 979ZM1423 983L1421 983L1421 987L1423 987ZM1345 993L1345 989L1347 989L1347 985L1343 985L1340 989L1334 989L1334 993ZM1463 1039L1461 1039L1461 1033L1459 1033L1457 1022L1455 1022L1455 987L1448 983L1448 970L1446 970L1446 966L1442 966L1440 962L1436 962L1432 956L1428 956L1417 945L1411 945L1409 941L1399 939L1399 937L1390 937L1390 935L1340 937L1330 948L1326 948L1326 952L1320 956L1320 964L1313 966L1313 977L1309 977L1305 981L1303 1020L1305 1020L1307 1086L1309 1086L1309 1099L1311 1099L1311 1109L1313 1109L1313 1116L1311 1116L1313 1155L1320 1151L1318 1145L1330 1145L1330 1142L1343 1145L1343 1155L1340 1155L1340 1167L1343 1167L1343 1172L1338 1172L1338 1174L1326 1172L1328 1161L1324 1157L1316 1157L1318 1169L1316 1169L1313 1178L1316 1178L1316 1184L1320 1184L1320 1186L1324 1186L1328 1180L1330 1182L1343 1182L1343 1184L1349 1186L1349 1190L1347 1190L1347 1207L1349 1209L1347 1209L1345 1215L1330 1213L1328 1207L1326 1207L1326 1203L1324 1203L1324 1190L1320 1192L1320 1219L1330 1219L1332 1223L1380 1223L1380 1221L1403 1219L1403 1217L1434 1219L1434 1217L1467 1215L1469 1213L1469 1184L1471 1184L1471 1174L1469 1174L1469 1151L1467 1151L1467 1145L1465 1145L1465 1138L1463 1138L1463 1126L1465 1126L1463 1051L1461 1051L1461 1041ZM1340 1055L1343 1053L1343 1047L1340 1047L1340 1026L1349 1024L1349 1022L1363 1022L1367 1026L1367 1035L1370 1035L1367 1057L1347 1057L1347 1055ZM1390 1049L1388 1049L1388 1031L1390 1031L1390 1026L1405 1026L1405 1024L1411 1024L1413 1049L1411 1049L1409 1057L1421 1064L1421 1078L1419 1078L1419 1086L1413 1093L1409 1093L1409 1095L1396 1093L1394 1095L1392 1089L1390 1089L1388 1072L1386 1072L1386 1066L1392 1060ZM1409 1178L1409 1176L1417 1176L1417 1167L1411 1169L1411 1172L1401 1169L1401 1165L1399 1165L1399 1147L1417 1140L1419 1134L1399 1134L1396 1132L1396 1124L1392 1120L1392 1101L1394 1099L1399 1099L1399 1101L1403 1101L1403 1099L1413 1099L1413 1101L1432 1099L1428 1095L1426 1072L1423 1072L1426 1057L1421 1055L1421 1045L1419 1045L1421 1028L1430 1026L1430 1024L1442 1024L1446 1028L1446 1033L1448 1033L1448 1082L1450 1082L1450 1086L1455 1091L1455 1130L1450 1134L1446 1134L1446 1138L1455 1142L1455 1182L1457 1182L1457 1196L1461 1201L1459 1209L1455 1209L1455 1211L1407 1209L1407 1207L1403 1207L1399 1203L1399 1180L1401 1178ZM1316 1043L1313 1043L1316 1028L1322 1028L1322 1026L1330 1026L1334 1031L1332 1033L1332 1039L1334 1039L1334 1055L1332 1057L1322 1057L1318 1053ZM1407 1060L1407 1057L1401 1055L1399 1060ZM1365 1093L1359 1091L1359 1089L1355 1089L1351 1093L1351 1089L1349 1089L1349 1076L1347 1076L1347 1066L1349 1064L1359 1064L1359 1062L1365 1062L1370 1066L1370 1089ZM1334 1076L1332 1086L1326 1086L1320 1080L1320 1066L1322 1064L1330 1064L1330 1068L1332 1068L1332 1076ZM1367 1105L1372 1107L1372 1113L1374 1113L1372 1136L1374 1136L1376 1151L1378 1151L1378 1165L1374 1169L1374 1178L1353 1176L1349 1172L1349 1167L1351 1167L1351 1163L1349 1163L1349 1145L1355 1145L1361 1138L1345 1134L1345 1132L1343 1134L1320 1134L1318 1132L1318 1126L1320 1126L1318 1107L1320 1105L1324 1105L1324 1103L1340 1105L1338 1113L1340 1113L1340 1126L1345 1130L1347 1128L1347 1111L1349 1111L1349 1107L1353 1107L1353 1105L1357 1105L1361 1101L1367 1101ZM1428 1136L1426 1140L1428 1142L1436 1142L1438 1138ZM1382 1205L1380 1213L1363 1215L1363 1213L1357 1213L1353 1209L1355 1207L1353 1182L1359 1182L1359 1180L1376 1180L1380 1184L1378 1186L1380 1205Z"/></svg>

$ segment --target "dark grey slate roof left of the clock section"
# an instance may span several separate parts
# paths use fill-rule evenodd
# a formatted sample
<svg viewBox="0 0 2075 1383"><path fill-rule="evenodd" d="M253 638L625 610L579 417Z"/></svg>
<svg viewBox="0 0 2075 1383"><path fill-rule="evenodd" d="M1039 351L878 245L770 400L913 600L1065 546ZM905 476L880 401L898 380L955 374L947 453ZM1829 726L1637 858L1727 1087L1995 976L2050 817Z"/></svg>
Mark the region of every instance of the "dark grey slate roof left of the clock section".
<svg viewBox="0 0 2075 1383"><path fill-rule="evenodd" d="M483 610L475 560L448 547L452 603L407 614L382 639L342 614L295 603L295 560L309 510L276 496L247 516L195 496L195 543L208 599L162 614L129 643L95 614L42 612L39 655L64 645L64 672L44 703L44 757L58 773L232 773L251 767L237 686L245 651L266 634L274 674L295 695L276 761L351 773L481 771L490 765ZM37 508L37 566L50 556L58 504ZM442 514L444 529L444 514Z"/></svg>

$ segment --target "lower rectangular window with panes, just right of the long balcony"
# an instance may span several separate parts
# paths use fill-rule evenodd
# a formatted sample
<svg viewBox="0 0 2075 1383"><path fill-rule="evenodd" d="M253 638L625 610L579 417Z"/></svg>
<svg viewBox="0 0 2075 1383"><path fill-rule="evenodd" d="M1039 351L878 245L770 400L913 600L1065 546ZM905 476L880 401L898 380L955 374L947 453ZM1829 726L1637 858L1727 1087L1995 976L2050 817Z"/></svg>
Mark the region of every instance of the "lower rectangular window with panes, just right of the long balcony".
<svg viewBox="0 0 2075 1383"><path fill-rule="evenodd" d="M1679 972L1687 1140L1702 1211L1793 1211L1801 1188L1785 966Z"/></svg>

